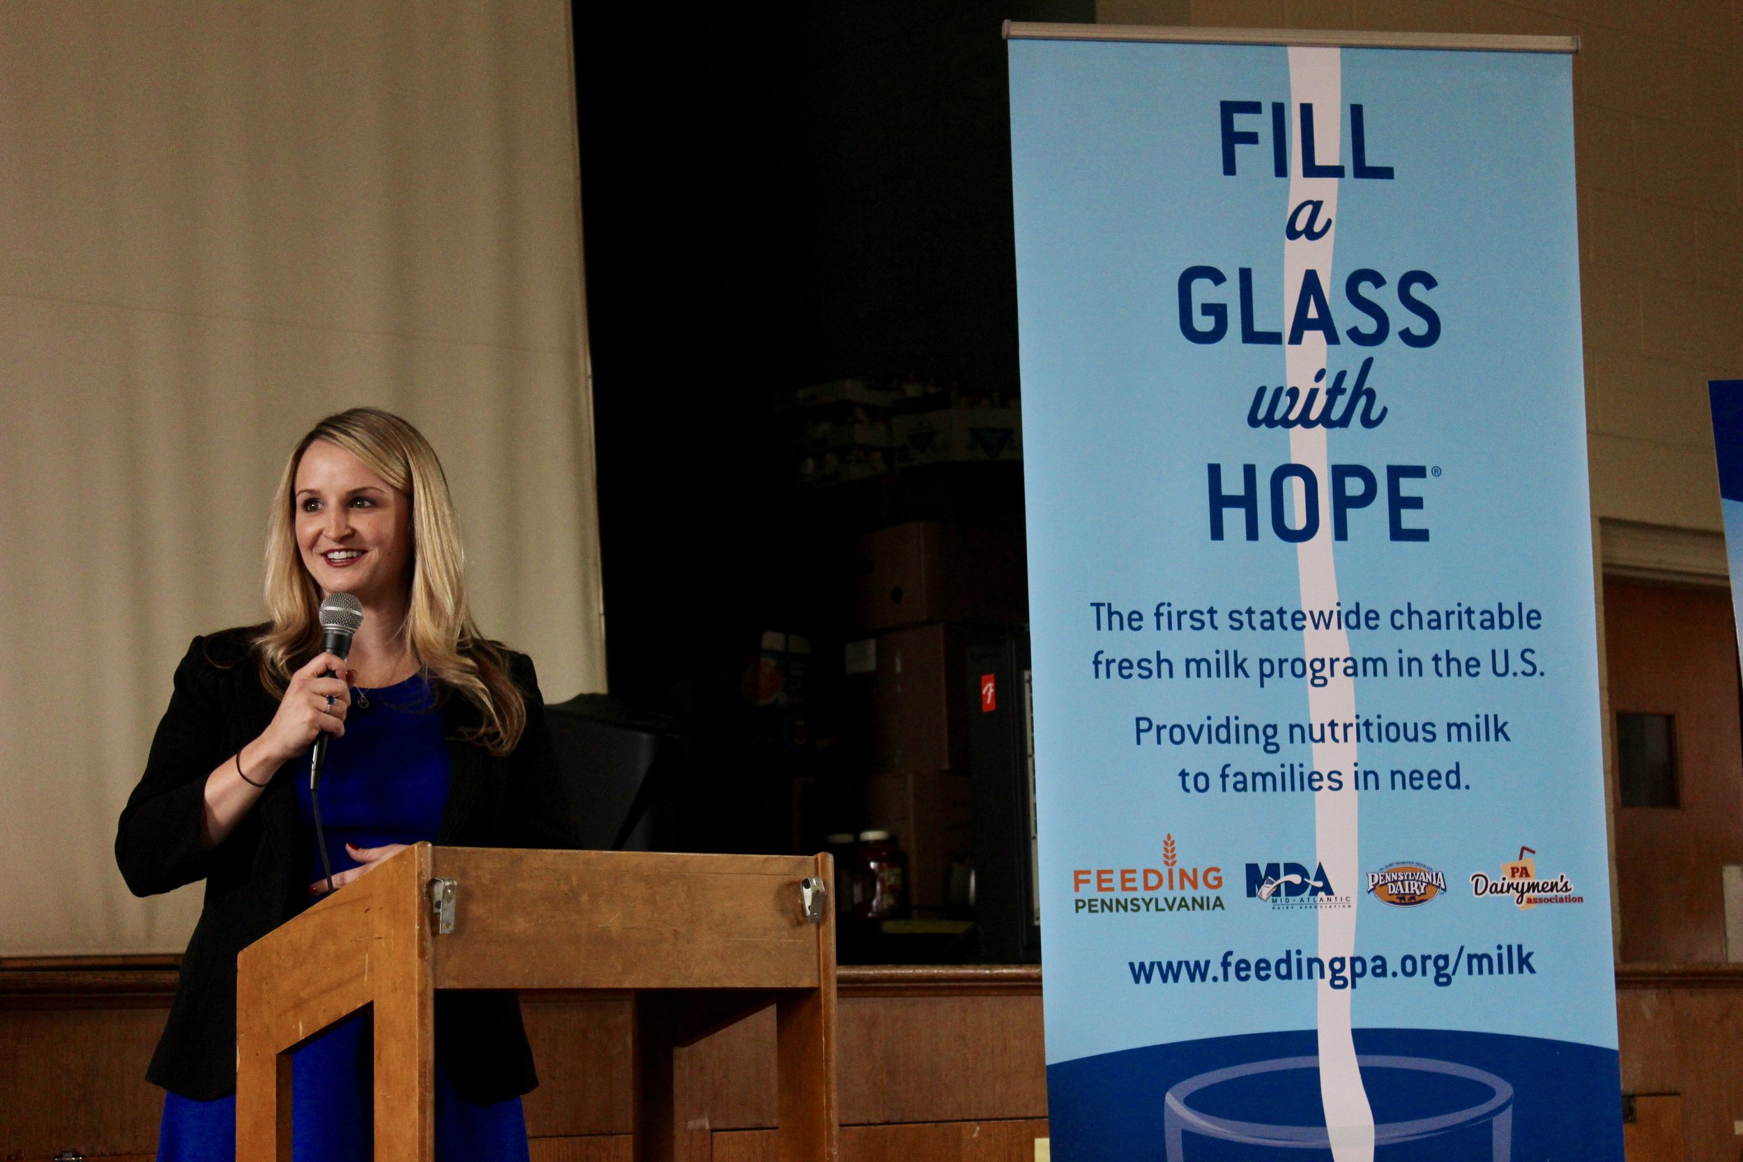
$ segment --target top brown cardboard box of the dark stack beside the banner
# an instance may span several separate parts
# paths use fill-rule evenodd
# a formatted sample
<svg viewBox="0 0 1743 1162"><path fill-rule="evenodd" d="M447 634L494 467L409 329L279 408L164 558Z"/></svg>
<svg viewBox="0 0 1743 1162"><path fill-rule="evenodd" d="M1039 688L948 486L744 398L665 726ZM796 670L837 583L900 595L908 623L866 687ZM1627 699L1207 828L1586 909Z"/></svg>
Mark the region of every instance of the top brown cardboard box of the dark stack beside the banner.
<svg viewBox="0 0 1743 1162"><path fill-rule="evenodd" d="M1028 573L1020 535L910 521L863 537L858 582L866 632L959 622L1028 620Z"/></svg>

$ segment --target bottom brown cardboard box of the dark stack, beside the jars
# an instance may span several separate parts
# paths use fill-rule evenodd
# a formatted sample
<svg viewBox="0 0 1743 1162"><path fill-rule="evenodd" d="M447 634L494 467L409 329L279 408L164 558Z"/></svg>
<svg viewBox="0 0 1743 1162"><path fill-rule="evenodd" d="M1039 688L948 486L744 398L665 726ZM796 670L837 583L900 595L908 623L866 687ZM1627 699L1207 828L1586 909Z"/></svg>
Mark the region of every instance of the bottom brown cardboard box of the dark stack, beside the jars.
<svg viewBox="0 0 1743 1162"><path fill-rule="evenodd" d="M866 780L866 826L887 829L908 855L908 904L950 906L950 864L974 855L974 794L966 774L913 770Z"/></svg>

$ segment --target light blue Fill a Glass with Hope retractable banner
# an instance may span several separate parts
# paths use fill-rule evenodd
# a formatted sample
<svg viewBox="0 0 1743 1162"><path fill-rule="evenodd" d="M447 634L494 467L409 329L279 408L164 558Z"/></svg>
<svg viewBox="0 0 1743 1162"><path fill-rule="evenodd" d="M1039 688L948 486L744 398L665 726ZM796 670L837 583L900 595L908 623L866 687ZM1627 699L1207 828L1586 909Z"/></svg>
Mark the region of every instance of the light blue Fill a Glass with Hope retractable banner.
<svg viewBox="0 0 1743 1162"><path fill-rule="evenodd" d="M1171 35L1009 44L1053 1157L1619 1160L1574 45Z"/></svg>

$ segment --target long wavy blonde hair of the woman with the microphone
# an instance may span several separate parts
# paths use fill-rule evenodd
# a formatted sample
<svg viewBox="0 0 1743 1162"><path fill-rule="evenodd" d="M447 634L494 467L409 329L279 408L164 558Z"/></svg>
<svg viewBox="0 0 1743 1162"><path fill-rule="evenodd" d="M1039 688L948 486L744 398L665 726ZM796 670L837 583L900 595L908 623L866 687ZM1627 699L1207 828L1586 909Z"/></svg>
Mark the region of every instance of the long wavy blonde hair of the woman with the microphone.
<svg viewBox="0 0 1743 1162"><path fill-rule="evenodd" d="M260 676L282 695L291 672L321 648L321 589L296 547L296 469L317 439L363 460L411 498L411 603L401 638L437 693L458 695L478 723L467 739L507 754L526 728L526 700L509 678L507 650L472 624L465 601L465 551L436 449L406 420L380 408L352 408L321 420L296 443L267 523L267 611L256 638Z"/></svg>

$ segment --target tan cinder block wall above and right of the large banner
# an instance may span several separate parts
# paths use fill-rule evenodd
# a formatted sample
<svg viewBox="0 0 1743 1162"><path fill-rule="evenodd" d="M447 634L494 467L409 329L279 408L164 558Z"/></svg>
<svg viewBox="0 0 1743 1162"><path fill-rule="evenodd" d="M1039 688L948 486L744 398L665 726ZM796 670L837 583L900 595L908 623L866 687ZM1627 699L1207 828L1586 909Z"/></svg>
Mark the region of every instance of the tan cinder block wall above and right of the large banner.
<svg viewBox="0 0 1743 1162"><path fill-rule="evenodd" d="M1103 24L1577 35L1593 516L1717 531L1706 382L1743 378L1733 0L1096 0Z"/></svg>

